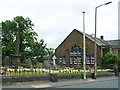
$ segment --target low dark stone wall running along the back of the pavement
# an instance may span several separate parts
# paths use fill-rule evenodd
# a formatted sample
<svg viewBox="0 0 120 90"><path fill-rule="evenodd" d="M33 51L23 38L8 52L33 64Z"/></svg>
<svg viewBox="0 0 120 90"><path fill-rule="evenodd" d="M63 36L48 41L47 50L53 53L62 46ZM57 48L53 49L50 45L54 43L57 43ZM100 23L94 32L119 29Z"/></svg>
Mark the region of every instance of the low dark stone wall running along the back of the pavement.
<svg viewBox="0 0 120 90"><path fill-rule="evenodd" d="M97 73L97 77L115 76L114 73ZM62 74L57 75L58 79L82 79L83 74ZM91 78L91 74L87 74L87 78ZM15 82L30 82L50 80L50 75L20 75L20 76L3 76L2 84L11 84Z"/></svg>

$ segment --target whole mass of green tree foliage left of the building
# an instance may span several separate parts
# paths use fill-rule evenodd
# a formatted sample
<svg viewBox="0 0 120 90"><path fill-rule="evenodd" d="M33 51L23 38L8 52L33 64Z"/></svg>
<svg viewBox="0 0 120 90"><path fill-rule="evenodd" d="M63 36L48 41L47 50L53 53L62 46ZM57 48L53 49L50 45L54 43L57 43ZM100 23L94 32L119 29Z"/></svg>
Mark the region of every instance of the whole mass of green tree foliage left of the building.
<svg viewBox="0 0 120 90"><path fill-rule="evenodd" d="M35 65L36 62L43 62L47 55L52 57L54 55L53 49L47 48L43 39L37 41L38 35L33 31L33 27L34 24L30 18L23 18L22 16L2 22L3 56L9 56L12 59L15 54L16 35L19 34L19 52L22 61L31 58L33 65Z"/></svg>

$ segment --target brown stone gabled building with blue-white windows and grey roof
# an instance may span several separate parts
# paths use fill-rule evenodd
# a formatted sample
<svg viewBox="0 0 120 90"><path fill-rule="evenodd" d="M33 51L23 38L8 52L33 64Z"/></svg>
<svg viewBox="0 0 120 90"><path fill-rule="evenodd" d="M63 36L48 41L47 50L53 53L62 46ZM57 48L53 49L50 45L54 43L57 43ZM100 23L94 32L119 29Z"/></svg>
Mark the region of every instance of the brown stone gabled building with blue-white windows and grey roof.
<svg viewBox="0 0 120 90"><path fill-rule="evenodd" d="M86 65L87 67L94 66L94 37L85 34L86 40ZM102 66L102 57L106 52L115 52L110 44L103 39L103 36L97 38L97 66ZM83 67L83 33L74 29L65 40L56 48L56 56L58 65L67 67Z"/></svg>

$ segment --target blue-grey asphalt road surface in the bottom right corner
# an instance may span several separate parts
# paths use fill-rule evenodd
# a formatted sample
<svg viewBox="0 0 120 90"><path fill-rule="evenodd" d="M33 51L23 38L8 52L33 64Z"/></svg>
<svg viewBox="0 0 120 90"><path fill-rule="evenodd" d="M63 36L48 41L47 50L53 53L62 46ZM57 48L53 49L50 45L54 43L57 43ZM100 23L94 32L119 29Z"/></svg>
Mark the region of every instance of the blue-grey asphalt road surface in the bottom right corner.
<svg viewBox="0 0 120 90"><path fill-rule="evenodd" d="M89 84L64 86L60 88L118 88L118 80L92 82Z"/></svg>

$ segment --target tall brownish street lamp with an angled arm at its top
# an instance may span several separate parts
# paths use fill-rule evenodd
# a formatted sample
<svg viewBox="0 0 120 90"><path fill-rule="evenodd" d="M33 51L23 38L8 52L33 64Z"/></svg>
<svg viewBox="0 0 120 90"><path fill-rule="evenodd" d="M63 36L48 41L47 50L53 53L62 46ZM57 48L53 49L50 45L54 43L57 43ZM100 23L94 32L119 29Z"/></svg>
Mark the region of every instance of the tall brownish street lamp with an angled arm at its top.
<svg viewBox="0 0 120 90"><path fill-rule="evenodd" d="M112 2L107 2L107 3L105 3L105 4L101 4L101 5L99 5L99 6L97 6L97 7L95 8L94 79L96 79L96 71L97 71L97 60L96 60L96 56L97 56L97 54L96 54L96 52L97 52L97 50L96 50L97 8L99 8L99 7L103 6L103 5L108 5L108 4L110 4L110 3L112 3Z"/></svg>

